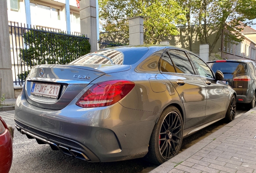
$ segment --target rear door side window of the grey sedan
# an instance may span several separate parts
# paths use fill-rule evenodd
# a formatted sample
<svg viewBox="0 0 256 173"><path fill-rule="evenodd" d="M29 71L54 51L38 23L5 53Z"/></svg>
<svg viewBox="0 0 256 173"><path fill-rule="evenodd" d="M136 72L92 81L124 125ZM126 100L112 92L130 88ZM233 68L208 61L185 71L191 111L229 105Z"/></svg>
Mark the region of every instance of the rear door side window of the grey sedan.
<svg viewBox="0 0 256 173"><path fill-rule="evenodd" d="M185 52L180 50L168 50L168 53L175 65L176 72L194 74L194 70Z"/></svg>

